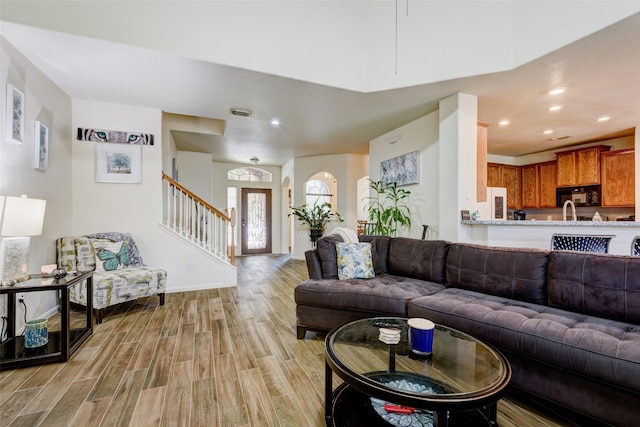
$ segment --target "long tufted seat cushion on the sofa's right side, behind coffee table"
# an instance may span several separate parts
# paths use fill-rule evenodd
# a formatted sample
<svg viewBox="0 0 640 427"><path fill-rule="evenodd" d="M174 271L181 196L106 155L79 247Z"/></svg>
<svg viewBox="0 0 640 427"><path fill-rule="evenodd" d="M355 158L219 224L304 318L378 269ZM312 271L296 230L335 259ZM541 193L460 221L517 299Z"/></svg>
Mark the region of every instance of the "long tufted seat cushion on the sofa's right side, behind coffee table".
<svg viewBox="0 0 640 427"><path fill-rule="evenodd" d="M640 326L449 288L409 303L424 317L499 349L640 391Z"/></svg>

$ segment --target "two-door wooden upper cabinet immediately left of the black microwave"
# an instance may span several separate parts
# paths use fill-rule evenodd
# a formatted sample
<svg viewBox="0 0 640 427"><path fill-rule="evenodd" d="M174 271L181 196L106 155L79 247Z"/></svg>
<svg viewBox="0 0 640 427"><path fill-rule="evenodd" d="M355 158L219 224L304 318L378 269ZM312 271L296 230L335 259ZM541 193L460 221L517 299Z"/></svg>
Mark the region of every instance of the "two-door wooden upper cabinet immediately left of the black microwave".
<svg viewBox="0 0 640 427"><path fill-rule="evenodd" d="M522 170L522 207L556 206L556 162L525 165Z"/></svg>

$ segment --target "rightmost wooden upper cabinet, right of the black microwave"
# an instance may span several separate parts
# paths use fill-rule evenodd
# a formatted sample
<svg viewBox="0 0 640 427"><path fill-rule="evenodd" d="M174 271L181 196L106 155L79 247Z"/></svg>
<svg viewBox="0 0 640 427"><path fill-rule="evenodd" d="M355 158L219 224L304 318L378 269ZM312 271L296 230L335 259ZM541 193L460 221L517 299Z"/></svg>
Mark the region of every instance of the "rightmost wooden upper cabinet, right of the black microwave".
<svg viewBox="0 0 640 427"><path fill-rule="evenodd" d="M635 205L635 151L633 148L601 155L602 206Z"/></svg>

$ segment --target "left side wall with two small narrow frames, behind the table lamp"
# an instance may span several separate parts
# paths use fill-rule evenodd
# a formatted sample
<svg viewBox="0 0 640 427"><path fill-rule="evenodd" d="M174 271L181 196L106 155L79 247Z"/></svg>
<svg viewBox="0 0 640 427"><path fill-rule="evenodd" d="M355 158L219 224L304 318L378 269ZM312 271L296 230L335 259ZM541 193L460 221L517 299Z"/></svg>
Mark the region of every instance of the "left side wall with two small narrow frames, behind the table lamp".
<svg viewBox="0 0 640 427"><path fill-rule="evenodd" d="M6 88L12 84L25 95L24 142L6 138ZM42 235L31 238L29 271L56 262L55 239L71 233L73 194L71 164L71 99L0 37L0 194L45 199ZM34 122L49 127L49 167L34 169ZM55 292L33 292L25 296L28 320L55 311ZM0 314L6 313L6 296L0 297ZM18 307L17 327L24 316Z"/></svg>

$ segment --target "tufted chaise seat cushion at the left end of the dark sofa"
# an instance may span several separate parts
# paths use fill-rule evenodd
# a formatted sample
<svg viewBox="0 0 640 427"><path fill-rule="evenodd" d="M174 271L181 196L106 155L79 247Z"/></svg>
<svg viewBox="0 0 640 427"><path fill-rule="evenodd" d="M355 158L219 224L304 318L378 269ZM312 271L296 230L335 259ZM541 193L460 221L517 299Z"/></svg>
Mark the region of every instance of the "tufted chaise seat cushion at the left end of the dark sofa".
<svg viewBox="0 0 640 427"><path fill-rule="evenodd" d="M406 316L411 299L444 288L439 283L383 274L372 279L305 280L296 286L294 297L297 305Z"/></svg>

